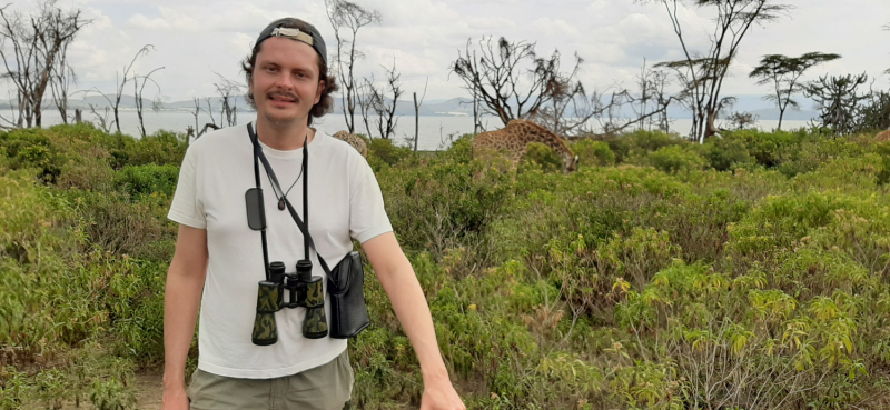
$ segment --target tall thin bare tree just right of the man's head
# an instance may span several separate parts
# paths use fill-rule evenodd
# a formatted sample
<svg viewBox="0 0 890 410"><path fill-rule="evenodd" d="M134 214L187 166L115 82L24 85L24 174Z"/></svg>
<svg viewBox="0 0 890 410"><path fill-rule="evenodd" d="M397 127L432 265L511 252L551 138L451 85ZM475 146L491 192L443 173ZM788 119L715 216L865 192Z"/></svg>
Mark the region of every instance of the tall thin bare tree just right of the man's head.
<svg viewBox="0 0 890 410"><path fill-rule="evenodd" d="M346 0L325 0L325 9L334 37L337 39L337 79L345 93L340 100L346 127L355 132L356 81L355 62L364 54L355 48L358 30L373 22L380 21L377 10L367 9Z"/></svg>

